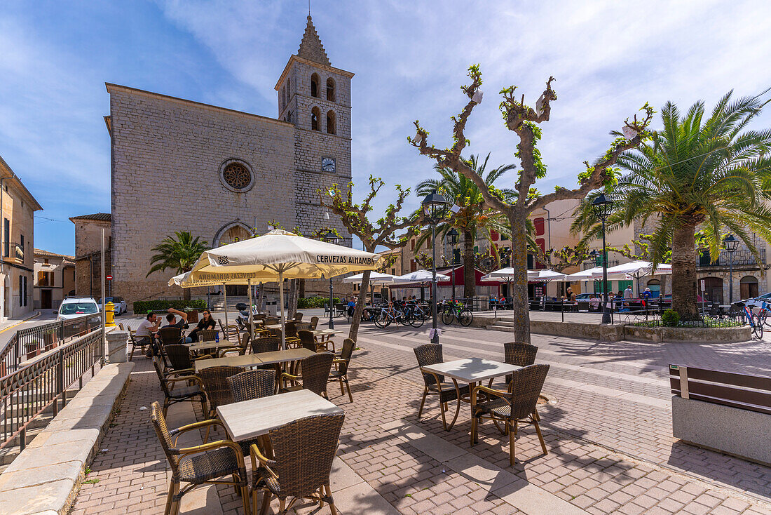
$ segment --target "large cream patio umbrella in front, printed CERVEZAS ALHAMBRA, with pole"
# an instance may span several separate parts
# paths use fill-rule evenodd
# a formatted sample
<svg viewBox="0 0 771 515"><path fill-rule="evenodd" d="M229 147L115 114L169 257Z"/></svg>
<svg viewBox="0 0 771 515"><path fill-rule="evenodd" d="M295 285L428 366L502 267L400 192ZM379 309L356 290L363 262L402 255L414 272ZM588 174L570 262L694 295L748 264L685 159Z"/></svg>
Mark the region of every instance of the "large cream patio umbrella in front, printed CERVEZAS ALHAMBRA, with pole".
<svg viewBox="0 0 771 515"><path fill-rule="evenodd" d="M381 260L379 254L277 229L257 238L203 252L193 266L190 280L227 283L247 279L249 284L251 280L278 281L281 348L285 349L284 279L328 279L343 273L375 269Z"/></svg>

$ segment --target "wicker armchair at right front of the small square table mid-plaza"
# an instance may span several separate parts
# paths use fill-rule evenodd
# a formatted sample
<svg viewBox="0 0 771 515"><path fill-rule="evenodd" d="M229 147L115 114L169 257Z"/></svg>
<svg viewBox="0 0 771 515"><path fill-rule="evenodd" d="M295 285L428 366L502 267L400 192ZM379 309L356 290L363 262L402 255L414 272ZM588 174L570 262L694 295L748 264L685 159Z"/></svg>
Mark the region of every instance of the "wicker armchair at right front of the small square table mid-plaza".
<svg viewBox="0 0 771 515"><path fill-rule="evenodd" d="M538 396L541 388L544 388L544 381L546 381L548 372L549 365L547 364L531 364L514 371L513 379L509 383L507 391L493 390L487 386L474 388L471 395L471 445L479 442L478 429L482 418L490 418L495 422L505 422L509 433L509 462L513 466L517 425L520 421L525 421L525 423L535 426L540 447L544 450L544 454L548 454L544 436L540 434L540 425L538 425L540 417L536 411ZM477 402L476 397L480 392L490 400Z"/></svg>

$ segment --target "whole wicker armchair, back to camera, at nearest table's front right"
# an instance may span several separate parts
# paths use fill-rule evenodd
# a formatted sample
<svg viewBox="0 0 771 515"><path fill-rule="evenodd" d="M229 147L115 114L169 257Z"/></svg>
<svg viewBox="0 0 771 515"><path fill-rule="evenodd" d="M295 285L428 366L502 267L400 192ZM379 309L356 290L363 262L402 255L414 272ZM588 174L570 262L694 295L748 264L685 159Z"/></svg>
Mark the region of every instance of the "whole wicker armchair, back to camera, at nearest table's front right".
<svg viewBox="0 0 771 515"><path fill-rule="evenodd" d="M314 415L284 424L270 432L274 459L251 446L252 503L257 513L258 493L263 492L260 513L268 513L271 497L278 497L279 512L286 513L298 499L329 504L337 514L329 474L338 448L345 415ZM258 468L259 466L264 468ZM287 505L287 498L291 498Z"/></svg>

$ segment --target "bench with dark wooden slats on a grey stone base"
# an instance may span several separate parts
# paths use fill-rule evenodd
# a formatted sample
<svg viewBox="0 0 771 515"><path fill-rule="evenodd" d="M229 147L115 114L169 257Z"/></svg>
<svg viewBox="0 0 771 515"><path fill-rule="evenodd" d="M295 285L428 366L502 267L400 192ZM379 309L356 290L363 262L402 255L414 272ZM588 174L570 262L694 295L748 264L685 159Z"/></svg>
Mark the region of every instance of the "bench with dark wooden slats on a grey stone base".
<svg viewBox="0 0 771 515"><path fill-rule="evenodd" d="M669 365L672 434L771 464L771 377Z"/></svg>

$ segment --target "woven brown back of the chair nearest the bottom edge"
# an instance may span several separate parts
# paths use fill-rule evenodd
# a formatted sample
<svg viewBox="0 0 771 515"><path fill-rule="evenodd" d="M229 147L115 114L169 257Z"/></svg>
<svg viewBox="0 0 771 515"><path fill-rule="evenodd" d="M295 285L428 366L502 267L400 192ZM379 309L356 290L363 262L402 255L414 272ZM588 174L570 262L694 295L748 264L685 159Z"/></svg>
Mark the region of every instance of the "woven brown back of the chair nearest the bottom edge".
<svg viewBox="0 0 771 515"><path fill-rule="evenodd" d="M329 483L345 415L314 415L270 432L281 496L306 497Z"/></svg>

